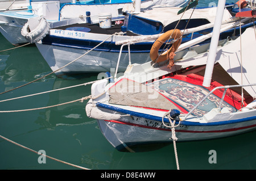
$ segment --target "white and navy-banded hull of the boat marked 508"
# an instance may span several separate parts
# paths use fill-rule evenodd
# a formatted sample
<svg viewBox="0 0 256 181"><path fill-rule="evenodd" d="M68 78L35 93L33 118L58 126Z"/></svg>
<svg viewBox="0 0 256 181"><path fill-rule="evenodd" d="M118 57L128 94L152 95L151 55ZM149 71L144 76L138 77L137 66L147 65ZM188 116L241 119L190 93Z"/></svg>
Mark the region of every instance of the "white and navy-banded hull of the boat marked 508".
<svg viewBox="0 0 256 181"><path fill-rule="evenodd" d="M246 26L242 27L242 31L250 26L252 26L252 23L246 24ZM233 28L232 30L222 32L220 40L232 36L233 32ZM236 33L237 32L238 31L236 31ZM50 35L47 35L42 41L35 44L52 71L58 70L55 73L57 76L63 74L95 73L111 71L111 68L116 68L119 52L121 50L121 45L115 45L116 42L127 39L132 40L134 37L139 37L114 35L111 37L111 41L109 41L110 36L111 35L100 33L51 30ZM193 38L199 36L201 36L201 34L197 33ZM141 37L144 36L142 35ZM189 40L191 40L191 37L183 37L182 43ZM210 39L205 40L201 44L209 43L209 40ZM151 61L149 53L152 44L154 44L154 41L130 45L131 64L144 64L145 62ZM98 45L100 46L98 47ZM160 49L160 51L161 50L162 49ZM76 60L77 58L79 59ZM182 58L182 56L175 56L175 60L179 58ZM65 66L69 63L71 64ZM128 65L128 48L124 46L118 71L125 71ZM63 68L63 66L65 67Z"/></svg>

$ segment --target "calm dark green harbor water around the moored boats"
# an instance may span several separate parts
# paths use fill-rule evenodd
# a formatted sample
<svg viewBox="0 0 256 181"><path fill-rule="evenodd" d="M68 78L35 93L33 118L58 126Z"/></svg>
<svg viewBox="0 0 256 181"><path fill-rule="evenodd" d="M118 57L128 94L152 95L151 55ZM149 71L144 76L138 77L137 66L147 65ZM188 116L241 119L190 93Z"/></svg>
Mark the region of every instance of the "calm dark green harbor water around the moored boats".
<svg viewBox="0 0 256 181"><path fill-rule="evenodd" d="M0 50L13 48L0 34ZM75 59L76 57L74 57ZM51 73L35 45L0 52L0 92ZM0 100L60 89L97 80L98 74L58 78L49 75L0 95ZM90 85L0 102L0 111L26 110L65 103L90 95ZM42 110L0 113L0 135L29 149L92 170L176 170L174 145L136 153L120 152L102 135L97 121L86 116L84 102ZM170 135L171 137L171 135ZM256 131L207 141L177 142L181 170L256 169ZM216 151L216 163L210 163ZM1 170L80 170L0 138Z"/></svg>

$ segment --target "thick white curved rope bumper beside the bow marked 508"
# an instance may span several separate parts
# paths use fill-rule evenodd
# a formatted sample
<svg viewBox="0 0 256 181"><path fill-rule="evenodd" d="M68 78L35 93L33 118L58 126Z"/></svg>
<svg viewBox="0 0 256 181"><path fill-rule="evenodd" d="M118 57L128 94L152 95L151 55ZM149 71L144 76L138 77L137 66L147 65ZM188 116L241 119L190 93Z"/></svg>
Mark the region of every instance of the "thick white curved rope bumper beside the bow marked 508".
<svg viewBox="0 0 256 181"><path fill-rule="evenodd" d="M49 33L49 23L45 18L39 20L38 26L30 31L28 22L22 27L22 36L24 36L30 43L35 43L42 40Z"/></svg>

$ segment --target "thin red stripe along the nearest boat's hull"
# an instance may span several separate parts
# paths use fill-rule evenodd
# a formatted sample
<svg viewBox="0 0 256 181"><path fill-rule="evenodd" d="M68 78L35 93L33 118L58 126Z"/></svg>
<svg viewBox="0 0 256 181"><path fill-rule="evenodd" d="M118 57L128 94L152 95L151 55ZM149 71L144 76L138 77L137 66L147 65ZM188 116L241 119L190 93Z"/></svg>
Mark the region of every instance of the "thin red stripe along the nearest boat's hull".
<svg viewBox="0 0 256 181"><path fill-rule="evenodd" d="M155 127L148 127L146 125L141 125L141 124L134 124L134 123L127 123L125 121L117 121L117 120L105 120L109 121L112 123L118 123L118 124L125 124L125 125L131 125L134 127L141 127L141 128L148 128L148 129L156 129L156 130L161 130L161 131L170 131L171 129L164 129L164 128L155 128ZM241 129L247 129L247 128L253 128L256 127L256 124L254 125L249 125L247 127L240 127L240 128L232 128L232 129L223 129L223 130L214 130L214 131L190 131L190 130L179 130L175 129L175 132L183 132L183 133L222 133L222 132L232 132L232 131L238 131Z"/></svg>

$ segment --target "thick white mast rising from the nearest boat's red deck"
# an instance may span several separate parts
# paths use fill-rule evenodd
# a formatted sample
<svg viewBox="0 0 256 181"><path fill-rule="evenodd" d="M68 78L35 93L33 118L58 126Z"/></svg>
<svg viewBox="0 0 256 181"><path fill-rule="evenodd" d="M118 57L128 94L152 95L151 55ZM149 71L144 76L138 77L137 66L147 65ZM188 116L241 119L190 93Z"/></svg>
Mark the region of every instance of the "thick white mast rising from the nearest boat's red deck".
<svg viewBox="0 0 256 181"><path fill-rule="evenodd" d="M212 39L210 40L210 48L207 59L207 66L205 68L203 86L210 87L212 81L213 66L215 64L216 52L218 46L218 39L220 37L221 22L224 14L226 0L219 0L217 6L216 17L214 20L214 27L212 33Z"/></svg>

